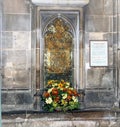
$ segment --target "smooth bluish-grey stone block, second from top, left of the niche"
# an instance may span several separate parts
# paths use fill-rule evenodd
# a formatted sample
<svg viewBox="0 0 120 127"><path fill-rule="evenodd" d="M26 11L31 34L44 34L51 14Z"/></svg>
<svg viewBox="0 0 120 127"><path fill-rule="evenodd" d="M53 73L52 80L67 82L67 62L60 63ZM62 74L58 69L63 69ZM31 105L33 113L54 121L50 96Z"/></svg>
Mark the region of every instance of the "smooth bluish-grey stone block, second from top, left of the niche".
<svg viewBox="0 0 120 127"><path fill-rule="evenodd" d="M30 31L29 14L3 15L3 31Z"/></svg>

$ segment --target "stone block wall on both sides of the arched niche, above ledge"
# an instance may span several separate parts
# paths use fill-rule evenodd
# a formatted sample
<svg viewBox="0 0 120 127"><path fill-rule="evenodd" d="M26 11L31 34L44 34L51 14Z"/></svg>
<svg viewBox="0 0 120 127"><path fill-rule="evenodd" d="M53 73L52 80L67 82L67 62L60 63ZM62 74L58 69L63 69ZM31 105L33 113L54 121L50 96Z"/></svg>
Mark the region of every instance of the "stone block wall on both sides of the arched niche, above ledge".
<svg viewBox="0 0 120 127"><path fill-rule="evenodd" d="M14 4L13 4L13 3ZM4 0L2 14L2 105L3 110L33 109L33 92L39 84L39 48L36 49L35 8L28 0ZM90 0L84 10L83 84L85 108L111 108L117 101L117 0ZM119 10L118 10L119 11ZM117 18L118 17L118 18ZM32 24L32 25L31 25ZM32 41L31 41L32 38ZM89 41L108 40L109 66L90 67ZM32 43L31 43L32 42ZM37 58L37 59L36 59ZM39 74L39 73L37 73ZM36 81L35 81L36 78ZM82 83L82 82L81 82ZM28 106L29 105L29 106ZM6 108L5 108L6 107Z"/></svg>

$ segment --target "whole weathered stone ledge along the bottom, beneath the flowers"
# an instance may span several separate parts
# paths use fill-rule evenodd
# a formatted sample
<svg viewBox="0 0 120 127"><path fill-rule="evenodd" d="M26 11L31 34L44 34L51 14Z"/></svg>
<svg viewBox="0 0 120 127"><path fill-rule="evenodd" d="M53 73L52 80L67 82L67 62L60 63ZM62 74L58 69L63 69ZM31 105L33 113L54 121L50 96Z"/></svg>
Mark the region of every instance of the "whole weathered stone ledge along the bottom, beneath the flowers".
<svg viewBox="0 0 120 127"><path fill-rule="evenodd" d="M112 112L36 113L2 116L3 127L119 127Z"/></svg>

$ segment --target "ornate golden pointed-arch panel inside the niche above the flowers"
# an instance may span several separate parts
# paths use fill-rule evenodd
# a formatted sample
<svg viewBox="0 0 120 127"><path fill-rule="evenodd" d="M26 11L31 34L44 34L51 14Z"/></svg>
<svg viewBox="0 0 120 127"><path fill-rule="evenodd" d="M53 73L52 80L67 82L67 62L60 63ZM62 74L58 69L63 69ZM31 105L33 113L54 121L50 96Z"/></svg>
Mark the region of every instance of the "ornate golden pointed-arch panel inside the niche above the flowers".
<svg viewBox="0 0 120 127"><path fill-rule="evenodd" d="M44 34L44 83L48 80L73 80L73 38L69 22L63 18L51 21Z"/></svg>

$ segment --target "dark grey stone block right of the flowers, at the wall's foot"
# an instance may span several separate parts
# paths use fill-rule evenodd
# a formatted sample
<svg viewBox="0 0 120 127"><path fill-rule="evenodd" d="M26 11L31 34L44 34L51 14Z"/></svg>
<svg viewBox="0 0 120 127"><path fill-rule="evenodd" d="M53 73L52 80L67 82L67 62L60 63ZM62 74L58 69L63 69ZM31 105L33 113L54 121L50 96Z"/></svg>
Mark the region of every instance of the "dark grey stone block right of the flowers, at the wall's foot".
<svg viewBox="0 0 120 127"><path fill-rule="evenodd" d="M86 108L111 108L115 102L114 91L86 91Z"/></svg>

